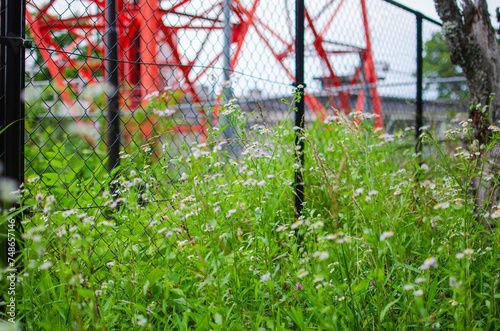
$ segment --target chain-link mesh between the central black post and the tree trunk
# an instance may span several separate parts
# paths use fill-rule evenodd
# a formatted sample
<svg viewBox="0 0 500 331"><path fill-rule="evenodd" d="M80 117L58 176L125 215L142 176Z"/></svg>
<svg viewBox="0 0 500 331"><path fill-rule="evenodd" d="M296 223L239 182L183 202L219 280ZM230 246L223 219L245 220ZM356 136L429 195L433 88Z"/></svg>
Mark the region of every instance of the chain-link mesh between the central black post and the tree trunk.
<svg viewBox="0 0 500 331"><path fill-rule="evenodd" d="M309 25L309 50L319 54L323 47L328 55L327 60L309 59L308 93L322 105L329 101L335 109L381 114L383 120L377 125L383 124L387 132L414 127L417 15L385 1L328 3L330 8L310 3L311 12L322 15ZM324 31L328 23L330 29ZM315 35L313 24L324 34ZM456 77L459 71L450 64L443 39L434 37L439 38L438 45L433 41L433 36L441 36L441 27L424 19L422 30L424 124L443 133L450 116L466 117L466 98L448 93L465 82ZM436 56L440 62L433 59ZM448 72L443 72L443 66Z"/></svg>

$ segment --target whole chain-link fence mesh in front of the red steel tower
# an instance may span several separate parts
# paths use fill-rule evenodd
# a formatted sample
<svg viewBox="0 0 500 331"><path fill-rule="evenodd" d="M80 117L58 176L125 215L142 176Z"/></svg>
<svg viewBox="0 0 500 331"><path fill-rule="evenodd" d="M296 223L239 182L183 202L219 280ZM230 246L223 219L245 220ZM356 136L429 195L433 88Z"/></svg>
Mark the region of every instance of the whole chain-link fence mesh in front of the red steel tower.
<svg viewBox="0 0 500 331"><path fill-rule="evenodd" d="M35 45L26 56L26 173L49 192L63 178L71 188L54 192L62 207L89 207L83 196L98 205L94 183L131 153L151 161L166 144L173 157L184 143L203 143L228 99L263 110L269 124L287 114L292 1L32 1L26 9ZM306 2L306 119L366 110L387 131L414 126L416 21L385 1ZM424 42L439 29L424 20ZM441 125L463 106L446 95L455 78L427 67L426 122ZM182 174L154 163L167 170L159 183Z"/></svg>

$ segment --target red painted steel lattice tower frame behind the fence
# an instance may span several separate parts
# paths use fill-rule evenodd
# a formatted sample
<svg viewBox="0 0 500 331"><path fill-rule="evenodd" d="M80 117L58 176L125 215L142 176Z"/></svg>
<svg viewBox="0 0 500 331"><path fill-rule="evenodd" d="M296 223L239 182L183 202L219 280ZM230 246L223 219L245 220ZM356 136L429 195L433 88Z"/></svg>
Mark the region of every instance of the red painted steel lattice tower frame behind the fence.
<svg viewBox="0 0 500 331"><path fill-rule="evenodd" d="M356 1L356 0L353 0ZM40 53L47 65L47 68L55 81L56 86L62 92L62 99L68 106L74 104L74 98L71 97L71 91L78 93L78 87L74 83L68 83L65 78L66 72L76 70L85 83L98 82L103 76L104 66L102 57L104 54L104 45L98 42L96 33L101 37L105 33L106 22L104 16L105 4L102 0L90 0L99 8L97 14L84 14L79 17L61 18L49 14L49 9L54 6L55 0L50 0L43 8L38 8L33 2L29 2L26 12L28 26ZM335 74L334 63L331 55L336 53L346 53L349 51L327 51L324 47L323 37L330 28L341 6L346 0L341 0L333 13L327 18L326 24L318 28L316 19L310 16L310 12L305 11L306 31L310 30L313 40L310 45L321 59L328 75L323 77L326 86L333 89L342 87L339 77ZM355 70L355 74L350 84L368 83L370 85L370 98L372 100L373 111L377 116L376 126L383 127L382 107L380 97L375 87L377 76L373 62L373 54L370 41L370 30L368 27L368 17L365 0L360 0L362 8L362 20L364 26L366 47L353 52L361 53L361 66ZM155 91L162 91L166 88L166 79L162 77L161 71L164 67L175 68L179 80L176 89L181 89L184 93L189 93L195 103L201 102L194 84L200 77L207 74L209 67L213 66L222 56L222 50L216 54L207 67L201 70L197 76L190 75L192 69L199 65L199 55L196 54L193 60L189 60L184 54L179 44L179 35L186 30L205 31L205 40L202 41L202 47L205 46L210 34L215 30L222 29L222 21L219 19L223 4L214 2L212 6L200 13L188 14L182 12L182 7L189 4L190 0L183 0L177 4L171 5L168 9L162 9L159 0L118 0L118 36L119 36L119 64L121 88L121 104L129 109L135 109L144 100L145 96ZM273 31L257 15L256 9L261 3L260 0L253 0L249 8L245 7L240 0L232 0L233 18L237 23L233 25L231 42L236 44L231 59L231 67L234 69L240 58L245 38L251 27L254 28L263 44L269 49L273 57L282 66L284 71L295 80L293 69L285 65L284 59L293 55L294 42L287 42L286 38L279 32ZM265 3L265 2L264 2ZM164 3L163 3L164 4ZM69 9L69 7L68 7ZM215 15L214 15L215 14ZM179 15L188 17L190 20L184 25L168 25L163 20L165 15ZM194 22L197 22L195 24ZM205 24L206 23L206 24ZM62 47L54 38L53 33L67 32L74 41ZM266 34L271 34L274 42L281 43L279 49L285 51L278 52L277 47L266 38ZM292 38L293 39L293 38ZM87 46L89 56L85 60L75 60L67 52L72 52L83 43ZM170 56L168 59L161 58L161 49L168 47ZM306 45L307 47L307 45ZM56 50L55 52L52 50ZM361 70L364 71L367 82L362 82L360 78ZM358 88L359 89L359 88ZM338 96L340 105L331 98L332 105L346 112L351 111L349 95L352 91L339 89ZM357 105L363 105L363 89L359 89ZM326 116L324 106L313 95L306 95L307 105L315 111L320 117ZM200 108L201 109L201 108ZM198 128L205 126L205 120L200 123ZM179 129L184 131L184 129Z"/></svg>

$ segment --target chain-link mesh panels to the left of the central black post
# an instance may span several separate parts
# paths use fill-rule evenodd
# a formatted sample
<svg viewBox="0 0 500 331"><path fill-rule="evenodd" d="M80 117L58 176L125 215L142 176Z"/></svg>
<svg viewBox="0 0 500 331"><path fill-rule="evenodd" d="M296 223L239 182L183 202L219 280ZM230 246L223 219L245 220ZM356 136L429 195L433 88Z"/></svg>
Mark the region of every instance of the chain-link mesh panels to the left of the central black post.
<svg viewBox="0 0 500 331"><path fill-rule="evenodd" d="M267 121L283 117L281 98L291 95L293 82L293 4L270 10L259 1L232 2L230 81L224 77L227 4L118 1L122 159L139 150L159 159L165 144L175 154L184 142L202 143L217 125L228 87L243 110L256 110L257 100ZM58 192L65 208L88 207L80 203L86 195L99 205L91 188L108 174L112 86L105 70L105 11L103 2L94 1L28 4L28 35L36 47L27 58L27 172L49 191L60 175L78 183L78 193ZM286 14L282 22L273 18L276 11ZM171 182L182 174L167 170L173 171L156 180Z"/></svg>

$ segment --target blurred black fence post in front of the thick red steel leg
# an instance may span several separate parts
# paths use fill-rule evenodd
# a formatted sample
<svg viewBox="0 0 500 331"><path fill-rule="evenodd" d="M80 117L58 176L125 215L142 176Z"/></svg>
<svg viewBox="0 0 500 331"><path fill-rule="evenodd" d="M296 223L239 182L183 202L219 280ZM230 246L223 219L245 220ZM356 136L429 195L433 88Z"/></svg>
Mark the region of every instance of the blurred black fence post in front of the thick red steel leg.
<svg viewBox="0 0 500 331"><path fill-rule="evenodd" d="M120 164L120 105L118 91L118 32L116 0L106 1L106 91L108 119L108 171Z"/></svg>

